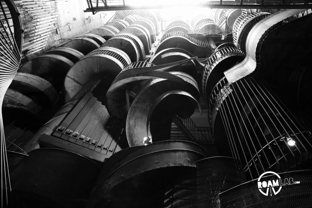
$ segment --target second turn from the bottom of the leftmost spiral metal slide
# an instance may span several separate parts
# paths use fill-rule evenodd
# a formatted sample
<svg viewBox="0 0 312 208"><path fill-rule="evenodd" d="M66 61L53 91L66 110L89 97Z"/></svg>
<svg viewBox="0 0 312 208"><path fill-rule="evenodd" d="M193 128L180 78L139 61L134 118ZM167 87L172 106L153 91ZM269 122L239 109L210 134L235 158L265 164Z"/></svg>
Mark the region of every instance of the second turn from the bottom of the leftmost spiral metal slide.
<svg viewBox="0 0 312 208"><path fill-rule="evenodd" d="M42 107L56 104L59 94L50 82L39 76L17 72L10 89L18 91L35 100Z"/></svg>

